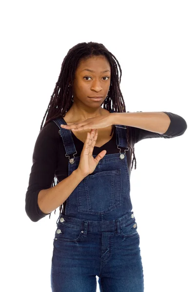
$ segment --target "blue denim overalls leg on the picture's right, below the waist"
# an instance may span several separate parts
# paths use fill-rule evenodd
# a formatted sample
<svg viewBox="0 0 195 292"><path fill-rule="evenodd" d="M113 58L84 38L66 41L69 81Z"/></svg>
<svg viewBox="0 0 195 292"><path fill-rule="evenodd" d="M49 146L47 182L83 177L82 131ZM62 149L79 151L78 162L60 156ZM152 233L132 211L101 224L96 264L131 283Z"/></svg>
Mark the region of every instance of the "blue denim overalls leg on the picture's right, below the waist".
<svg viewBox="0 0 195 292"><path fill-rule="evenodd" d="M115 235L111 239L112 255L104 263L98 279L100 292L143 292L144 275L139 235Z"/></svg>

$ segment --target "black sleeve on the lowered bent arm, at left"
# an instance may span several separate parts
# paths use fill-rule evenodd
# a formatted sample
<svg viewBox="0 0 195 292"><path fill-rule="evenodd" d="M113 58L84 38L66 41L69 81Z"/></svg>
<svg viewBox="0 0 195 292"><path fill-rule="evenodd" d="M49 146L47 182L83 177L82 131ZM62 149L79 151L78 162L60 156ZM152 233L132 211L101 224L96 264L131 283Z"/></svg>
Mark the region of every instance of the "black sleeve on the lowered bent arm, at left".
<svg viewBox="0 0 195 292"><path fill-rule="evenodd" d="M52 186L57 168L59 141L59 135L57 134L55 123L49 122L41 129L35 143L33 165L25 198L25 211L33 222L37 222L48 215L39 208L38 194L40 190Z"/></svg>

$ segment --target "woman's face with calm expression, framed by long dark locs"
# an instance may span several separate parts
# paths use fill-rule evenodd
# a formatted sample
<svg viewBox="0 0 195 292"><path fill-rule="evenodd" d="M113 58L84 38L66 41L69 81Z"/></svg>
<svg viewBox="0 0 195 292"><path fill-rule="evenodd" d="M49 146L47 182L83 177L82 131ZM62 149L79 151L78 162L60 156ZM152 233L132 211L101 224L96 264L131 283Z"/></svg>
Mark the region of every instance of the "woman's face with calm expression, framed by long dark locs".
<svg viewBox="0 0 195 292"><path fill-rule="evenodd" d="M110 80L111 68L104 56L82 60L75 73L74 103L82 107L100 107L108 94ZM98 95L100 98L92 98Z"/></svg>

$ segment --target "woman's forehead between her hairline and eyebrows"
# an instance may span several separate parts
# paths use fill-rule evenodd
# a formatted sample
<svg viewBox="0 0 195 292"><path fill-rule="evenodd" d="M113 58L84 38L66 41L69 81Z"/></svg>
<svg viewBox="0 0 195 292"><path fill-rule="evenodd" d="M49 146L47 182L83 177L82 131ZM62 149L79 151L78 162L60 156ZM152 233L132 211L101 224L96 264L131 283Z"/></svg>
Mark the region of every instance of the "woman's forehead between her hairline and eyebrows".
<svg viewBox="0 0 195 292"><path fill-rule="evenodd" d="M95 73L111 70L110 64L104 56L93 56L84 60L80 60L77 72L84 72L85 69L92 70Z"/></svg>

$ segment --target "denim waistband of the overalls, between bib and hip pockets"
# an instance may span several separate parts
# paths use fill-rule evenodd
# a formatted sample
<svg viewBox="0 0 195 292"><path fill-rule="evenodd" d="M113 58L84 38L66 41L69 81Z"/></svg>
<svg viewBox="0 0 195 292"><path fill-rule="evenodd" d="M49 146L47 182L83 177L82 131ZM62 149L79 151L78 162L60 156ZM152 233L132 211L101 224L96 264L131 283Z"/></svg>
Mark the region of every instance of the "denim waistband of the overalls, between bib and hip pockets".
<svg viewBox="0 0 195 292"><path fill-rule="evenodd" d="M130 213L124 215L123 217L120 217L115 220L111 221L90 221L90 220L81 220L73 217L69 217L63 214L59 215L59 218L57 220L60 224L63 224L67 227L72 227L76 229L86 229L87 231L91 232L101 232L101 231L116 231L120 227L125 227L129 225L131 222L135 221L134 212L131 211Z"/></svg>

